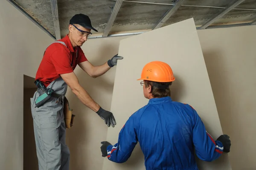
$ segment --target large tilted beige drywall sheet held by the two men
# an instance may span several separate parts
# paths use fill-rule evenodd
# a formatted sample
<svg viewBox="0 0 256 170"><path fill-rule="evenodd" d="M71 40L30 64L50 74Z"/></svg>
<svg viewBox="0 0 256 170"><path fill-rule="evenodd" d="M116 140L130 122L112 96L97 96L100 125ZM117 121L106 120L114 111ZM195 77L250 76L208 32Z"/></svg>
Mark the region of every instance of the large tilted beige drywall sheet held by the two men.
<svg viewBox="0 0 256 170"><path fill-rule="evenodd" d="M171 89L172 99L192 105L215 140L222 134L193 18L123 39L119 55L124 59L118 61L116 67L111 103L116 127L108 129L107 141L115 144L129 116L148 103L137 78L143 66L151 61L163 61L172 67L176 78ZM216 161L197 161L200 170L231 170L225 153ZM127 162L117 164L105 158L102 170L145 170L139 143Z"/></svg>

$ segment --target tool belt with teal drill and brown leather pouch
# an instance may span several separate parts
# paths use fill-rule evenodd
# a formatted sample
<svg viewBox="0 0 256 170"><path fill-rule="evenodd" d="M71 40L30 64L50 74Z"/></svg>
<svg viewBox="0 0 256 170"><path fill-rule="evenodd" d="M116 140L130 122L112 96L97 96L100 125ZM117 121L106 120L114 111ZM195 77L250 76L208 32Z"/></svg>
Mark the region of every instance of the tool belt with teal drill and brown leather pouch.
<svg viewBox="0 0 256 170"><path fill-rule="evenodd" d="M41 83L40 81L38 81ZM63 95L54 93L53 89L47 89L45 86L38 86L37 92L40 94L38 99L35 102L36 107L41 107L46 101L48 101L51 97L55 98L63 98L63 113L66 128L70 129L73 126L73 121L76 115L73 115L73 109L70 109L69 102L67 98Z"/></svg>

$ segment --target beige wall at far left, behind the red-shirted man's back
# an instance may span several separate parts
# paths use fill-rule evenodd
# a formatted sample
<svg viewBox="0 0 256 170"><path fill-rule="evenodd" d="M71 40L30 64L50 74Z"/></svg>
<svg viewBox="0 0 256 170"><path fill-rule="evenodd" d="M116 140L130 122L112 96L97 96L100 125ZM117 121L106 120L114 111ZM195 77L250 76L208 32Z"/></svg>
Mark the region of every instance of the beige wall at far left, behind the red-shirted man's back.
<svg viewBox="0 0 256 170"><path fill-rule="evenodd" d="M35 77L53 41L6 0L0 2L0 169L23 169L23 75Z"/></svg>

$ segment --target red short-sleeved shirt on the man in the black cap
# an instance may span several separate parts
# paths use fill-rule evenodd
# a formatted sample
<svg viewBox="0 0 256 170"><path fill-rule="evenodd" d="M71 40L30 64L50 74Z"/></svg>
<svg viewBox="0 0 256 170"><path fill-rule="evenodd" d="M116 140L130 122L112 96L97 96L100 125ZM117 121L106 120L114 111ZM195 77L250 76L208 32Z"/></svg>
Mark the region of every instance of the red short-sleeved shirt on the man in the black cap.
<svg viewBox="0 0 256 170"><path fill-rule="evenodd" d="M45 86L59 78L60 74L73 72L78 63L87 61L83 50L79 46L76 59L77 48L73 48L68 35L58 41L63 41L67 47L61 43L52 43L46 49L35 76L35 79L42 81ZM72 61L73 66L71 66Z"/></svg>

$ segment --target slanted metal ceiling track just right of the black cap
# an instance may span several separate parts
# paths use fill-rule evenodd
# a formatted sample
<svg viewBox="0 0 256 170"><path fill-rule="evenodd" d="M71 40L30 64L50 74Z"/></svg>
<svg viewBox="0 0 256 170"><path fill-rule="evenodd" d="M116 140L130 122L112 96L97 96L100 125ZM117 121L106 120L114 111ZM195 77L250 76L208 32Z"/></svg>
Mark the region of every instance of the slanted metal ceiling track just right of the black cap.
<svg viewBox="0 0 256 170"><path fill-rule="evenodd" d="M113 25L113 23L114 23L114 21L116 19L116 15L119 12L119 9L120 9L120 7L122 5L122 1L123 0L116 0L116 4L113 7L113 10L112 10L112 12L110 14L110 17L108 19L108 23L107 23L107 25L105 27L105 30L103 32L102 37L107 37L108 36L108 34L109 34L110 30L111 30L111 27L112 27L112 25Z"/></svg>

